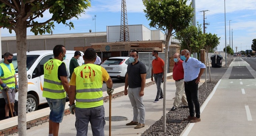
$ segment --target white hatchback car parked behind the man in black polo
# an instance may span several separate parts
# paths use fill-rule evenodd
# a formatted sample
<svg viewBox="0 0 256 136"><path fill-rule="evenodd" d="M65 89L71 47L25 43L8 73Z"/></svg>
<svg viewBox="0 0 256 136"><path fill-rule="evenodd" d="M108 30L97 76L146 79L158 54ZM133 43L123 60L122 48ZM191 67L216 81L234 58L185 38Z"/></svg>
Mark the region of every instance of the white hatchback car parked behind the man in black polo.
<svg viewBox="0 0 256 136"><path fill-rule="evenodd" d="M105 60L100 66L107 70L110 78L119 78L125 81L129 58L130 57L111 57Z"/></svg>

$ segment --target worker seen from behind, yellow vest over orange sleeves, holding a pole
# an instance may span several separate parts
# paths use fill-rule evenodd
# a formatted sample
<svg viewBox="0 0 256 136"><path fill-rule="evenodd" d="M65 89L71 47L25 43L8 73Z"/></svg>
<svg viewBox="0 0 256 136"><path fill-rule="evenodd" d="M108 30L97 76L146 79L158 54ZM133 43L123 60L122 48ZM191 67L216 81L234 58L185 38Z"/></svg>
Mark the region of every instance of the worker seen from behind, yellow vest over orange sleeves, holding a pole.
<svg viewBox="0 0 256 136"><path fill-rule="evenodd" d="M84 65L74 69L70 80L69 106L71 114L76 112L76 136L87 136L88 123L93 136L104 136L105 112L102 84L107 85L108 95L114 91L108 72L94 64L96 51L88 48L84 52ZM76 104L74 100L76 99Z"/></svg>

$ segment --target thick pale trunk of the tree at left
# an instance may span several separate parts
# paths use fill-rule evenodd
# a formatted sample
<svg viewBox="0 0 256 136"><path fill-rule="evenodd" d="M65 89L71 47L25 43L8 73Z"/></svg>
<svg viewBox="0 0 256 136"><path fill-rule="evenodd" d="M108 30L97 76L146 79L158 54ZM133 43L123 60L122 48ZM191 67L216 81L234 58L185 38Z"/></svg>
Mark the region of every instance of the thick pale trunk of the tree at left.
<svg viewBox="0 0 256 136"><path fill-rule="evenodd" d="M16 50L18 61L18 133L19 136L26 136L26 101L28 91L28 79L26 71L26 37L27 28L26 20L22 20L20 17L15 26L16 32Z"/></svg>

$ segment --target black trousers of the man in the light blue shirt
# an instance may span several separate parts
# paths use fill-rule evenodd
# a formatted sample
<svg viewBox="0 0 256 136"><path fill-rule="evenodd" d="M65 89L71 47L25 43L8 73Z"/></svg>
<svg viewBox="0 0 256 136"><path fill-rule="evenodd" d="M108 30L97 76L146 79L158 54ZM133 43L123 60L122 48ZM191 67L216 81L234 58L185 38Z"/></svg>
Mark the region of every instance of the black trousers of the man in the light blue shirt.
<svg viewBox="0 0 256 136"><path fill-rule="evenodd" d="M190 116L195 115L196 110L196 118L200 118L200 104L198 101L198 84L196 84L196 79L190 82L184 82L185 85L185 93L188 101L188 108ZM194 103L194 104L193 104ZM195 110L194 110L195 105Z"/></svg>

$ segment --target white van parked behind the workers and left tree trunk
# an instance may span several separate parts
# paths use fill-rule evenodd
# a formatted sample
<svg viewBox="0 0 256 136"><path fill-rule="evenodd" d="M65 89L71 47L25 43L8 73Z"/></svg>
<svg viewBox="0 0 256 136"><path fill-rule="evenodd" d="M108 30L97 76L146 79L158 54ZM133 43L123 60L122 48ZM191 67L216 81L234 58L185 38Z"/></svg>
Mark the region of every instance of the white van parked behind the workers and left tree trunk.
<svg viewBox="0 0 256 136"><path fill-rule="evenodd" d="M69 63L71 58L74 56L74 50L66 51L66 59L63 60L66 64L68 77L69 73ZM83 52L81 52L84 55ZM44 86L44 63L46 63L50 58L54 58L52 50L37 50L27 52L27 78L28 78L28 94L27 94L27 104L26 112L32 112L37 110L38 105L47 103L45 97L42 97L43 86ZM0 63L4 62L4 59ZM18 82L18 65L17 65L17 54L13 54L12 64L16 71L16 78ZM80 56L78 64L81 66L83 64L83 58ZM69 78L68 78L69 81ZM18 82L19 83L19 82ZM18 92L15 95L15 100L18 100ZM4 107L4 97L0 91L0 105ZM15 104L17 105L17 104Z"/></svg>

